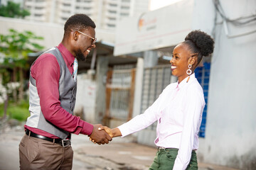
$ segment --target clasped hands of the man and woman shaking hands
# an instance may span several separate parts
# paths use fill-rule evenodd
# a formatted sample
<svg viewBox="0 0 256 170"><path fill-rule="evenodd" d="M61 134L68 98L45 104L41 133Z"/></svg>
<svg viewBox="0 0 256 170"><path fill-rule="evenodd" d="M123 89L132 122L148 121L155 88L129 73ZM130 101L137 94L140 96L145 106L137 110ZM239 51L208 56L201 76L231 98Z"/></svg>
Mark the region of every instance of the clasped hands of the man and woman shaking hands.
<svg viewBox="0 0 256 170"><path fill-rule="evenodd" d="M89 135L90 141L97 143L98 145L108 144L112 137L121 136L121 132L118 128L110 129L107 126L100 124L93 125L92 134Z"/></svg>

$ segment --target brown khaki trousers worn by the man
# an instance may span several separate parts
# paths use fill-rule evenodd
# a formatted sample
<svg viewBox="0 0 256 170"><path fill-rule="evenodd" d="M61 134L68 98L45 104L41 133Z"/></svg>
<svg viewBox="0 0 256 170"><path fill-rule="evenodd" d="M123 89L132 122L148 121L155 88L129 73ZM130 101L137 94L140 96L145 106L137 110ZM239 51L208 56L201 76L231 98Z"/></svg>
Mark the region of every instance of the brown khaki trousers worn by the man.
<svg viewBox="0 0 256 170"><path fill-rule="evenodd" d="M21 170L72 169L73 149L25 134L19 145L19 162Z"/></svg>

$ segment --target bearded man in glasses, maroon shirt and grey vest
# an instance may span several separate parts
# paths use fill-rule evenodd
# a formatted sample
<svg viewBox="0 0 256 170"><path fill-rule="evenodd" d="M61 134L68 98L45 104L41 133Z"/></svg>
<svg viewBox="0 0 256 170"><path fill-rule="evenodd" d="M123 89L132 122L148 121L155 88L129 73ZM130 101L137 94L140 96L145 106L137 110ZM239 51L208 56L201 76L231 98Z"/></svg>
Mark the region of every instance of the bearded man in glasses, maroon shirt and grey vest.
<svg viewBox="0 0 256 170"><path fill-rule="evenodd" d="M95 48L95 23L85 14L68 18L63 40L32 64L26 134L19 145L20 169L72 169L70 133L105 144L112 138L99 125L73 115L77 89L77 58Z"/></svg>

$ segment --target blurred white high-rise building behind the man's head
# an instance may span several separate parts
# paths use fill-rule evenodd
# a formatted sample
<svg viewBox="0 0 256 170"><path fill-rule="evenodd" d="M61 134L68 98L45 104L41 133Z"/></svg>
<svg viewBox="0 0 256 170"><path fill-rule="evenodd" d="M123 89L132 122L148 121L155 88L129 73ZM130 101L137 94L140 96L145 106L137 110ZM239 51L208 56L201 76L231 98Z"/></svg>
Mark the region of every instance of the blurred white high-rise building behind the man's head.
<svg viewBox="0 0 256 170"><path fill-rule="evenodd" d="M27 19L63 24L75 13L85 13L95 21L97 28L114 29L117 22L128 16L149 11L149 0L24 0L31 11Z"/></svg>

